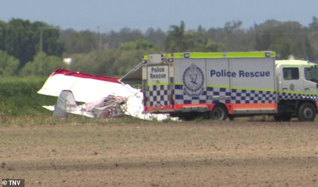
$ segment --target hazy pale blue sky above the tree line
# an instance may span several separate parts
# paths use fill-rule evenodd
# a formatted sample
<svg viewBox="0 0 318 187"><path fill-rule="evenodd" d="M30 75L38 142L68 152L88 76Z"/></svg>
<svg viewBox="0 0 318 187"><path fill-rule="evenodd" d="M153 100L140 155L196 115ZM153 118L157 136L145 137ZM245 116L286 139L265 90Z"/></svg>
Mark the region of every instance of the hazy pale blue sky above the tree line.
<svg viewBox="0 0 318 187"><path fill-rule="evenodd" d="M186 30L222 28L226 22L242 21L243 28L266 20L297 21L308 26L318 17L317 0L1 0L0 20L13 18L42 21L61 29L99 32L124 27L145 32L168 31L185 22Z"/></svg>

